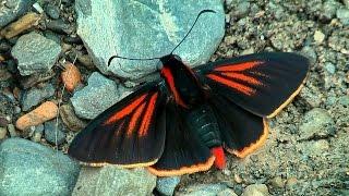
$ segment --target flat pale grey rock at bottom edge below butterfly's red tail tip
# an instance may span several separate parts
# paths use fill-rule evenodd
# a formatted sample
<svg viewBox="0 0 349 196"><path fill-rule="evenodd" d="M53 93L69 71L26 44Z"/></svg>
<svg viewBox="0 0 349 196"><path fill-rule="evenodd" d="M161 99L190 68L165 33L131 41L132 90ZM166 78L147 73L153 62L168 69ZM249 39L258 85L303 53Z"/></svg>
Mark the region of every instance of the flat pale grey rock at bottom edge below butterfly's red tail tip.
<svg viewBox="0 0 349 196"><path fill-rule="evenodd" d="M224 183L200 184L185 188L185 193L178 193L179 196L216 196L218 193L226 191L228 186Z"/></svg>

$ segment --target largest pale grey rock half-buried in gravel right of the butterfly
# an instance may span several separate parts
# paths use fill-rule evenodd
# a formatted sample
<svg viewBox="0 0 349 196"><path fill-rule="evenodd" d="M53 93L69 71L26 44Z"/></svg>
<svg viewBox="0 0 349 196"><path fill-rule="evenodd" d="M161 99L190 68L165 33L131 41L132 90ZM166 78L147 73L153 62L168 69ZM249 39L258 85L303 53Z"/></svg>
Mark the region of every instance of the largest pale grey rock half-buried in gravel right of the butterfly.
<svg viewBox="0 0 349 196"><path fill-rule="evenodd" d="M321 108L314 108L306 112L302 124L299 126L299 139L312 139L314 137L327 137L336 133L335 122L328 112Z"/></svg>

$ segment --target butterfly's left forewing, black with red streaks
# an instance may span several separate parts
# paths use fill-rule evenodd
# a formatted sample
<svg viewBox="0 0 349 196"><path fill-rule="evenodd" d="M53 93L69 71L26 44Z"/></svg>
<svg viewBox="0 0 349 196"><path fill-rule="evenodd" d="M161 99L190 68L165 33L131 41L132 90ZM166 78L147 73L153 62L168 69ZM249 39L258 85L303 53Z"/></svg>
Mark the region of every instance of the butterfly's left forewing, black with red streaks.
<svg viewBox="0 0 349 196"><path fill-rule="evenodd" d="M75 136L68 154L89 166L154 164L166 135L167 95L161 85L149 83L104 111Z"/></svg>

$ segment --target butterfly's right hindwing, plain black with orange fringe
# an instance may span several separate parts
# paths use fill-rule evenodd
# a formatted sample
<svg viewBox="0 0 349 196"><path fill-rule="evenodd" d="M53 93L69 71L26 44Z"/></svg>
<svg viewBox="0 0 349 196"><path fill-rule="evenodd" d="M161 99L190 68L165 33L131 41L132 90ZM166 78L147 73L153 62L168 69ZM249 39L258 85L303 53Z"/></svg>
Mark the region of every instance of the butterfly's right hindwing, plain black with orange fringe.
<svg viewBox="0 0 349 196"><path fill-rule="evenodd" d="M215 95L209 105L217 118L227 151L243 158L264 144L268 135L264 118L242 109L220 95Z"/></svg>

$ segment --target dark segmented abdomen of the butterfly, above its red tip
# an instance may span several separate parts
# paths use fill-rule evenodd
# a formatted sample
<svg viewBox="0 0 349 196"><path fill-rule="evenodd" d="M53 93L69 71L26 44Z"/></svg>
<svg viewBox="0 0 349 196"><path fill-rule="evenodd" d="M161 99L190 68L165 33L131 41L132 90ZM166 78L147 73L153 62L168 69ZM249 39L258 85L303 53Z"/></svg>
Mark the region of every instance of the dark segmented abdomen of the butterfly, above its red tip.
<svg viewBox="0 0 349 196"><path fill-rule="evenodd" d="M190 110L185 120L193 133L196 133L200 140L208 148L221 146L219 126L213 109L202 105Z"/></svg>

